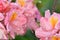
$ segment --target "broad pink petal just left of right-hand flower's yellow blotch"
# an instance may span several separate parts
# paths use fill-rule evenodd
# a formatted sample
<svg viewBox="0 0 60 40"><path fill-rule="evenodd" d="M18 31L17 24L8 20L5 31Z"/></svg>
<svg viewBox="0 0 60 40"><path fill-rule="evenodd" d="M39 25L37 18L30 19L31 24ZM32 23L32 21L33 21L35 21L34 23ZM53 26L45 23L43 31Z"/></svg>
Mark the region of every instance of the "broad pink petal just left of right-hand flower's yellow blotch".
<svg viewBox="0 0 60 40"><path fill-rule="evenodd" d="M49 20L47 18L43 18L43 17L41 18L40 26L46 31L52 30L52 26L50 25Z"/></svg>

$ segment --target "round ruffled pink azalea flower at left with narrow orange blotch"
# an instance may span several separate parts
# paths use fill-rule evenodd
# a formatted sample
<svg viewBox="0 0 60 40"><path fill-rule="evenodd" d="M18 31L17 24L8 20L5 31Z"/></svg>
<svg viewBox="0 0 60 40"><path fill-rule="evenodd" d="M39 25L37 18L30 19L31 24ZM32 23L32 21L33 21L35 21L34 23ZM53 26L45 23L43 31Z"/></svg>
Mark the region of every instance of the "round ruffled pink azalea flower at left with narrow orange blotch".
<svg viewBox="0 0 60 40"><path fill-rule="evenodd" d="M6 13L5 25L7 31L14 38L15 34L24 35L26 33L27 18L23 15L22 11L17 8L12 8Z"/></svg>

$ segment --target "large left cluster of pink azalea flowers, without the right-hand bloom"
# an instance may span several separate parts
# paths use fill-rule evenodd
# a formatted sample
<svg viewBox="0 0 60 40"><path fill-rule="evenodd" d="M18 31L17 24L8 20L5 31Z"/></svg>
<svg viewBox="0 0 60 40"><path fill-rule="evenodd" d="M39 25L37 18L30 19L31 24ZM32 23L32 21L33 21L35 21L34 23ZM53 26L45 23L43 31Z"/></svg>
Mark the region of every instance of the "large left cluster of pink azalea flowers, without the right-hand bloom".
<svg viewBox="0 0 60 40"><path fill-rule="evenodd" d="M27 29L36 30L40 13L33 0L0 0L0 39L24 35Z"/></svg>

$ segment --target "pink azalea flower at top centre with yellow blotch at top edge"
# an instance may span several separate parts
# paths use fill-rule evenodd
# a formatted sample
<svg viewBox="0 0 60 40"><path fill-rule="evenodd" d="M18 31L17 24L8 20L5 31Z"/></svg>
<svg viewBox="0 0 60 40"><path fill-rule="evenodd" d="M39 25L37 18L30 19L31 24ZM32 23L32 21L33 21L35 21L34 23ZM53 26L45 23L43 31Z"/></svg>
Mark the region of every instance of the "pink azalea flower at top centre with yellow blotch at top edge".
<svg viewBox="0 0 60 40"><path fill-rule="evenodd" d="M35 30L38 28L38 24L35 21L40 20L40 13L36 6L32 3L32 0L16 0L16 3L23 8L23 14L27 17L27 27L31 30ZM23 6L23 7L22 7Z"/></svg>

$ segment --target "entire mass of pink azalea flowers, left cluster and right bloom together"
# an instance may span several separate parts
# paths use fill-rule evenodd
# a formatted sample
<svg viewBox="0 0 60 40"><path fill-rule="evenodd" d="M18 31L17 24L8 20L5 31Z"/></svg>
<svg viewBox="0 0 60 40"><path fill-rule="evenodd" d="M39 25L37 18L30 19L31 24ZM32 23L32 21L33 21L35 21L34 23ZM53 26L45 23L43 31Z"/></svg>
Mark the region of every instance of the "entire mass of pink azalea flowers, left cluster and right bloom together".
<svg viewBox="0 0 60 40"><path fill-rule="evenodd" d="M14 39L27 29L39 40L60 40L60 14L46 10L42 17L33 0L0 0L0 39Z"/></svg>

